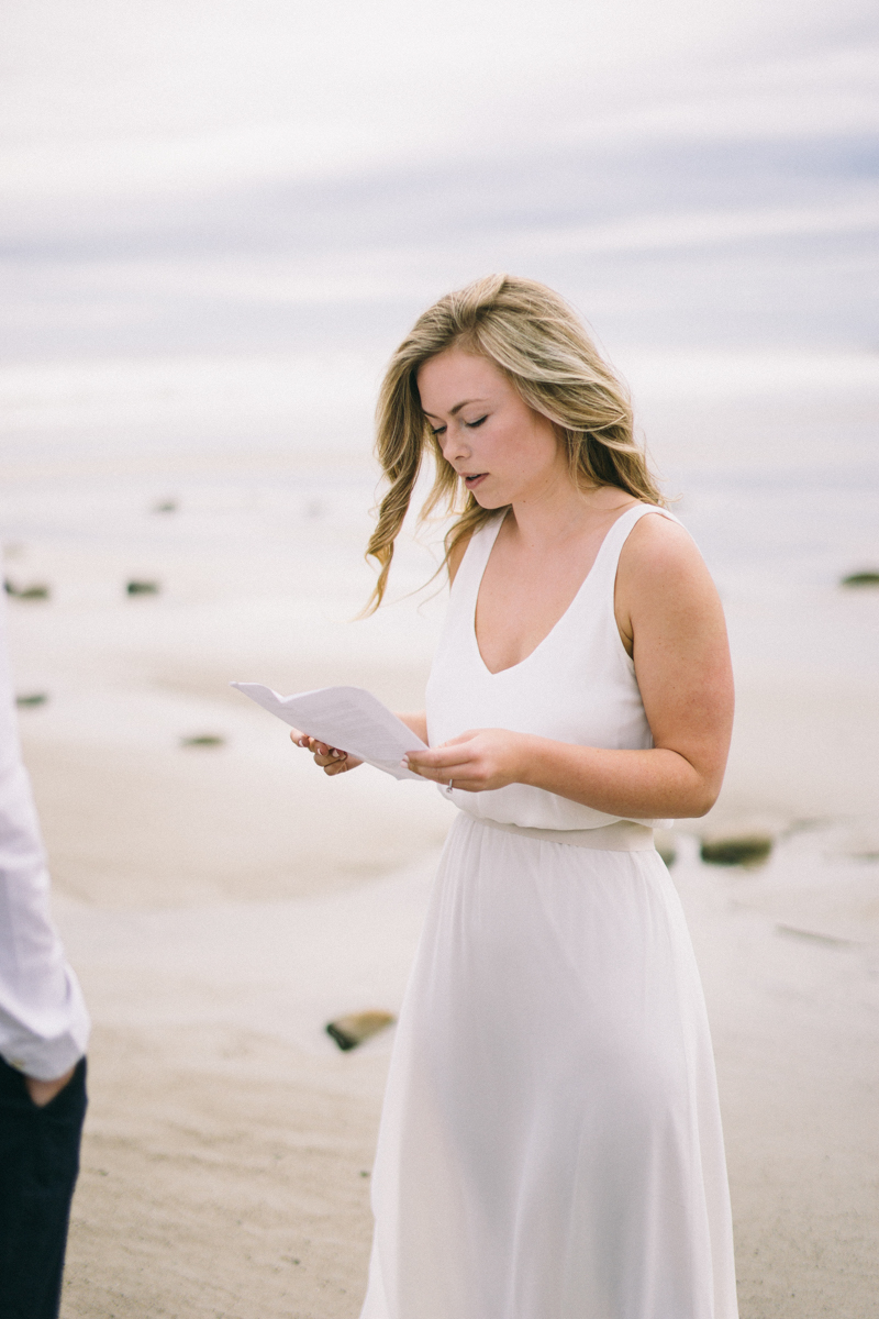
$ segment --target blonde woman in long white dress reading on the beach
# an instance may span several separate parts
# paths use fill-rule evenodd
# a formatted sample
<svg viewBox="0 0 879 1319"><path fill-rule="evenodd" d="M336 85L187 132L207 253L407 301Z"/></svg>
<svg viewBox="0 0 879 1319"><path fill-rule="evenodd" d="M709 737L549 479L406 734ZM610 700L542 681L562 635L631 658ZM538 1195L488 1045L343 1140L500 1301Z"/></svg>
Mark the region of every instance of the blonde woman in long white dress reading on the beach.
<svg viewBox="0 0 879 1319"><path fill-rule="evenodd" d="M696 546L569 307L492 276L378 406L381 601L422 456L467 489L409 764L460 807L401 1012L362 1319L734 1319L698 973L652 843L721 786L733 685ZM294 735L328 774L356 761Z"/></svg>

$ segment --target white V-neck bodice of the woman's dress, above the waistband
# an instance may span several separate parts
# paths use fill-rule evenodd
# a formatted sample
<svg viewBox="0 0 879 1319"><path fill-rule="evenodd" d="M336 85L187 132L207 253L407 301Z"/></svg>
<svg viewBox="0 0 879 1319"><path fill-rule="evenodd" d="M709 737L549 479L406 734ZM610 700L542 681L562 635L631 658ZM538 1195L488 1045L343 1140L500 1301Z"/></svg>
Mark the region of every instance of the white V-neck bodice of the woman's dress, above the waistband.
<svg viewBox="0 0 879 1319"><path fill-rule="evenodd" d="M438 747L470 728L509 728L581 747L652 747L635 678L614 616L622 546L644 516L671 513L635 504L613 524L580 590L527 658L492 673L476 640L476 601L503 521L499 513L470 538L452 586L445 627L427 683L427 732ZM453 790L461 810L525 828L601 828L618 820L542 787L510 783L486 793ZM662 824L662 820L642 820Z"/></svg>

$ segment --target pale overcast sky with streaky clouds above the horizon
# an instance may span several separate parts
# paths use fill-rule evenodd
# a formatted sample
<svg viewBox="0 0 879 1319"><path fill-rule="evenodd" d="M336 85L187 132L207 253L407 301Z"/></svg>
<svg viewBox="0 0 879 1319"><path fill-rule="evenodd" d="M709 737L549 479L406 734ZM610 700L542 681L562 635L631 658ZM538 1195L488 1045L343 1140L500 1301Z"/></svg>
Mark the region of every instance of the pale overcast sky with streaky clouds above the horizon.
<svg viewBox="0 0 879 1319"><path fill-rule="evenodd" d="M875 351L862 0L8 0L8 361L357 352L509 269L611 351Z"/></svg>

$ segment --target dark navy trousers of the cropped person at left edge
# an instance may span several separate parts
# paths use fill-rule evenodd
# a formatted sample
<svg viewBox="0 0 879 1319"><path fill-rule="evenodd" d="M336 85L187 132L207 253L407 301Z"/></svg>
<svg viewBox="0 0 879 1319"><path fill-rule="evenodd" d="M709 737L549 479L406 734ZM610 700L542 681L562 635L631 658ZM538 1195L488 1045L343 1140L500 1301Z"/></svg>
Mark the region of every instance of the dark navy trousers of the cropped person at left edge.
<svg viewBox="0 0 879 1319"><path fill-rule="evenodd" d="M0 1058L3 1319L57 1319L86 1103L84 1058L45 1108Z"/></svg>

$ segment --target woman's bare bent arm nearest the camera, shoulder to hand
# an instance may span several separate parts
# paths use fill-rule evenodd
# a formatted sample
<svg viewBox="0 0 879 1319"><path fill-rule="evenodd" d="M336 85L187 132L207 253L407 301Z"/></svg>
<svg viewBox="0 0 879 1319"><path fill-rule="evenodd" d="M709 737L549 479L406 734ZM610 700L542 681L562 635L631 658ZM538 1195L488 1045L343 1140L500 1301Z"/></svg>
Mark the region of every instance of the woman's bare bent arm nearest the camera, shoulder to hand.
<svg viewBox="0 0 879 1319"><path fill-rule="evenodd" d="M704 815L726 766L731 666L708 570L687 533L666 518L642 518L623 546L617 623L635 662L651 751L474 729L410 756L411 768L468 791L528 783L609 815Z"/></svg>

